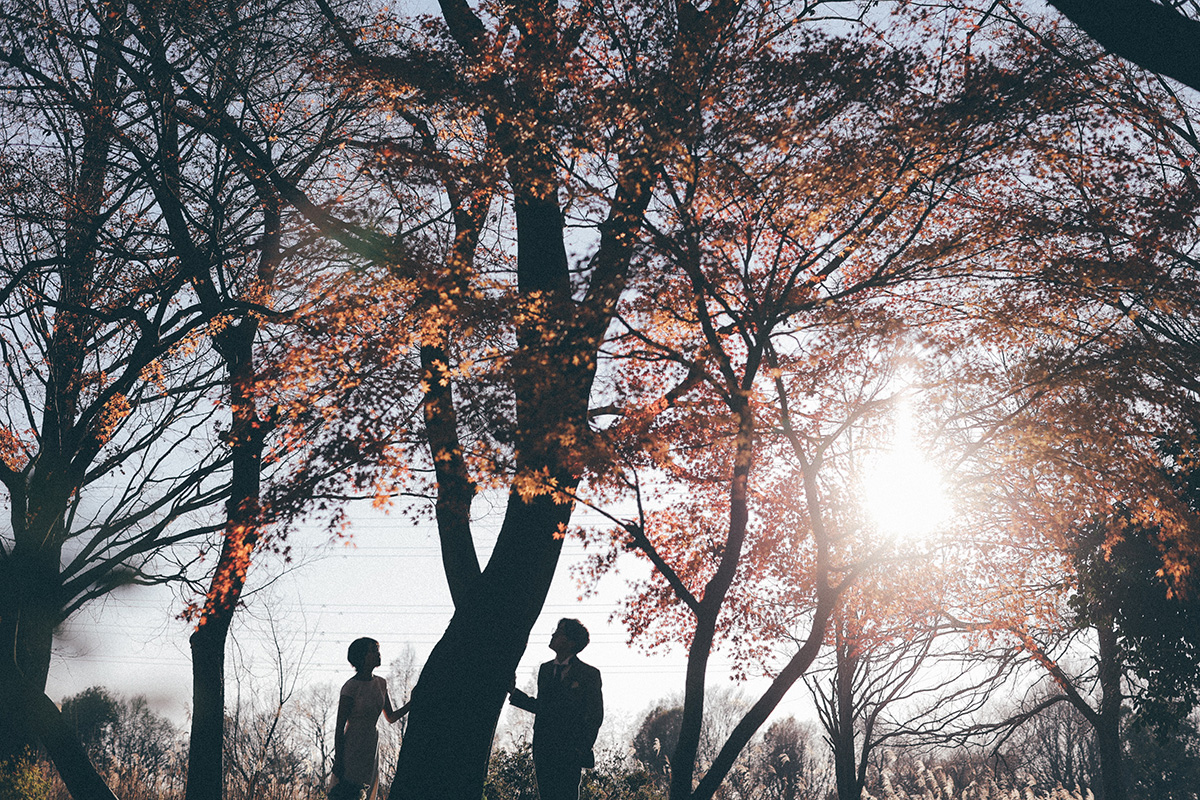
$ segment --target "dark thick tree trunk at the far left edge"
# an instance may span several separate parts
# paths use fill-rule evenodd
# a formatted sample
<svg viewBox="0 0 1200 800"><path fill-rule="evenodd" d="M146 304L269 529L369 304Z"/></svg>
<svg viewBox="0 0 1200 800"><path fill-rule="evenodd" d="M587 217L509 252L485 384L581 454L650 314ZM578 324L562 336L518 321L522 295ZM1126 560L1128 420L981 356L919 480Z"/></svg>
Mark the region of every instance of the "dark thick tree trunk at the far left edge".
<svg viewBox="0 0 1200 800"><path fill-rule="evenodd" d="M124 2L102 2L101 11L101 41L109 44L121 41ZM86 308L94 299L97 219L110 168L110 125L118 85L118 67L106 55L107 50L106 47L97 50L91 95L86 98L88 104L79 109L78 178L62 221L65 237L58 267L59 300L65 308L54 314L53 335L47 343L40 450L22 471L4 471L14 543L11 552L0 553L0 648L4 649L0 656L0 758L20 754L40 736L55 736L59 742L52 748L50 742L43 741L52 758L55 752L70 752L70 747L59 741L61 730L54 727L54 715L44 712L42 699L54 628L64 615L60 560L67 509L98 451L95 437L78 420L84 343L95 323L66 308ZM54 730L38 729L38 723L52 726ZM86 763L86 757L83 760ZM70 765L59 769L60 772L65 770L64 780L67 774L78 772ZM103 783L94 769L91 774L94 780L89 783Z"/></svg>

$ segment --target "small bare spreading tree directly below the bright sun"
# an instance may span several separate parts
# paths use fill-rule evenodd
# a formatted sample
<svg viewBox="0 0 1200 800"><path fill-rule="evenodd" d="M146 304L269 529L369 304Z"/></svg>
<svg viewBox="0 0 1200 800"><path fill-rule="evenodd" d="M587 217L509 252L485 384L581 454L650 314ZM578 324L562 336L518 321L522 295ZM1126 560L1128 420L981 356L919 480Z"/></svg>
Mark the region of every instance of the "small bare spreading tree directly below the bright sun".
<svg viewBox="0 0 1200 800"><path fill-rule="evenodd" d="M1027 673L1019 651L967 636L955 622L954 607L970 604L986 575L970 569L962 551L979 543L965 545L964 533L949 519L930 519L925 530L911 531L918 545L906 548L906 558L868 572L846 593L830 621L823 662L804 676L832 750L840 799L862 796L887 747L972 745L959 735L962 727ZM1025 599L1018 603L1028 608Z"/></svg>

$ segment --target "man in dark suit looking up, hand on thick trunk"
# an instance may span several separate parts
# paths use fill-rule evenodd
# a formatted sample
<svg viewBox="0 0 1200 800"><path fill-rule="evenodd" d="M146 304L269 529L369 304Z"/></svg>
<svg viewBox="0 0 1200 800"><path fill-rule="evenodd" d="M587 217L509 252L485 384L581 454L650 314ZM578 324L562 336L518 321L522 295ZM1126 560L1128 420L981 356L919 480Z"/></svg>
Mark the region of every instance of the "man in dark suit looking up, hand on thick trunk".
<svg viewBox="0 0 1200 800"><path fill-rule="evenodd" d="M538 697L515 685L512 705L536 716L533 723L533 766L541 800L578 800L584 766L595 766L592 745L604 720L600 670L578 660L588 646L588 628L562 619L550 637L554 658L538 670Z"/></svg>

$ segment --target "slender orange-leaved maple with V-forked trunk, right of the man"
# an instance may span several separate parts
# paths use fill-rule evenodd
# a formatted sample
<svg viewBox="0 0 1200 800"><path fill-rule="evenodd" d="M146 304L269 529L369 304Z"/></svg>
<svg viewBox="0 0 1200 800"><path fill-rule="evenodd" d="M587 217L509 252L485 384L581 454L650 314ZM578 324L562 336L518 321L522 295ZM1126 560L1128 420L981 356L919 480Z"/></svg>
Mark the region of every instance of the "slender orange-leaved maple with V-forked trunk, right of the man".
<svg viewBox="0 0 1200 800"><path fill-rule="evenodd" d="M742 43L755 47L749 34ZM756 94L763 86L718 84L737 102L722 106L714 90L713 107L737 112L697 125L686 155L665 169L668 200L648 219L647 260L661 266L638 273L612 348L623 359L613 381L623 419L610 438L622 468L604 477L640 517L613 515L611 549L595 564L644 553L656 575L626 621L635 636L686 643L673 798L712 796L812 663L847 587L888 563L889 546L856 513L851 443L887 427L902 384L932 395L938 356L970 338L961 318L922 313L940 277L948 303L979 290L972 275L997 297L970 319L988 347L1032 305L1016 284L995 291L1021 267L979 198L1008 197L1008 168L1036 160L1039 137L1064 121L1039 110L1050 65L1021 52L970 62L961 83L919 92L906 76L920 74L924 53L888 61L854 40L805 44L778 68L821 76L810 83L770 84L769 97ZM918 91L911 102L908 91ZM976 115L976 91L1012 116ZM857 115L863 106L888 122L872 127ZM892 125L931 138L896 142ZM780 608L803 620L799 634ZM773 667L773 686L694 784L712 649L724 639L745 660L785 637L794 649Z"/></svg>

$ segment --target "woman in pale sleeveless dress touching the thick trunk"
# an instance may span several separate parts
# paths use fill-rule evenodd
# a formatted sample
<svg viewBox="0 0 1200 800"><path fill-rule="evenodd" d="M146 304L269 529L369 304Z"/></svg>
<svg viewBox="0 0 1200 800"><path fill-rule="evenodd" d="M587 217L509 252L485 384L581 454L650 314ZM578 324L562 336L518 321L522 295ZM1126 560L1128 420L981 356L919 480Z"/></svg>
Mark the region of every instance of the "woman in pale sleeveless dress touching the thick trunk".
<svg viewBox="0 0 1200 800"><path fill-rule="evenodd" d="M330 800L377 800L379 794L379 733L376 723L383 712L388 722L408 714L408 703L391 708L388 681L372 672L379 666L379 643L355 639L346 651L354 676L342 686L334 730L334 783ZM364 794L364 790L366 794Z"/></svg>

